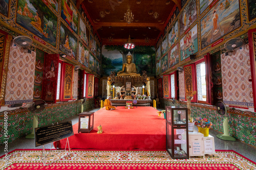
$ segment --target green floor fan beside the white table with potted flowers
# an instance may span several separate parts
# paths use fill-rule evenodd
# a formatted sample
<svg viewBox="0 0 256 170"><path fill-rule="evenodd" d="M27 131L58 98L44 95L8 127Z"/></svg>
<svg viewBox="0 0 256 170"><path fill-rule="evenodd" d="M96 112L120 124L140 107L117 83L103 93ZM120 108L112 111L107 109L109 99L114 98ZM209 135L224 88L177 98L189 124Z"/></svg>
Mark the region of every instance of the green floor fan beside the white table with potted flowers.
<svg viewBox="0 0 256 170"><path fill-rule="evenodd" d="M226 107L226 105L219 101L217 102L217 111L220 115L225 116L227 114L227 110L229 110L229 107ZM217 137L222 139L222 140L229 140L229 141L236 141L236 138L232 137L229 135L229 130L228 130L228 118L225 117L223 121L223 134L218 134Z"/></svg>

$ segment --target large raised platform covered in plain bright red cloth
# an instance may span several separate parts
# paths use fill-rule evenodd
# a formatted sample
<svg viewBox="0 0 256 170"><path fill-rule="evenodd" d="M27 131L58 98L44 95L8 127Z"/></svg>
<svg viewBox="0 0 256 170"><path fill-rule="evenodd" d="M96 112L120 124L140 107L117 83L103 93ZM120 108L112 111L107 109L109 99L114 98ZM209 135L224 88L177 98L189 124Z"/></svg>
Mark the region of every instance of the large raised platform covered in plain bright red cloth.
<svg viewBox="0 0 256 170"><path fill-rule="evenodd" d="M103 133L97 134L101 125ZM71 149L108 150L165 150L166 130L163 115L158 116L153 107L134 107L116 110L102 108L94 113L94 130L78 133L78 123L73 125L74 135L69 137ZM64 149L67 139L54 142L54 147Z"/></svg>

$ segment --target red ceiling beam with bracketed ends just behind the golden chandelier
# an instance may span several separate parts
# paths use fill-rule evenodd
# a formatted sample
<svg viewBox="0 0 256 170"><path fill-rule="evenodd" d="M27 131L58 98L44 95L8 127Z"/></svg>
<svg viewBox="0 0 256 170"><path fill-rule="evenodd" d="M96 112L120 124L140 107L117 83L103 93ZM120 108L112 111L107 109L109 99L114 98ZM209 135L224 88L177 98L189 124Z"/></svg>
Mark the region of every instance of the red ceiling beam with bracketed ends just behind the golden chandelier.
<svg viewBox="0 0 256 170"><path fill-rule="evenodd" d="M159 23L124 23L124 22L97 22L94 23L94 32L96 32L101 27L129 27L129 28L139 28L139 27L152 27L158 29L162 34L164 34L164 25Z"/></svg>

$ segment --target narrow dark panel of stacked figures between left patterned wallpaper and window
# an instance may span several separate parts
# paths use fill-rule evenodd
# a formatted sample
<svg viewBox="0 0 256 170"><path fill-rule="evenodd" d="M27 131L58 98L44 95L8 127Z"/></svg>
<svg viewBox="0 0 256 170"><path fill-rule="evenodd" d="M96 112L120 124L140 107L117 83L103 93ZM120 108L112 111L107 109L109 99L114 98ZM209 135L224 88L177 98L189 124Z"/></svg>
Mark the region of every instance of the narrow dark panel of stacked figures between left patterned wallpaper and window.
<svg viewBox="0 0 256 170"><path fill-rule="evenodd" d="M42 79L44 75L45 52L37 49L35 59L35 80L34 80L34 100L41 99Z"/></svg>

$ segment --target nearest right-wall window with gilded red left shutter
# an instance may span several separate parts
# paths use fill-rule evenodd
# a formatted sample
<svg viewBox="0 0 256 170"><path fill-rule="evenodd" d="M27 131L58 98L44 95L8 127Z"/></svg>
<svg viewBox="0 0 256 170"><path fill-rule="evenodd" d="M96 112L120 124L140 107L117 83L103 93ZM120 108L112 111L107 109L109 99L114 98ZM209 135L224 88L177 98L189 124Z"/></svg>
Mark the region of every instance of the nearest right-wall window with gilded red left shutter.
<svg viewBox="0 0 256 170"><path fill-rule="evenodd" d="M193 96L193 91L197 93L191 102L211 104L210 90L210 60L209 54L203 59L184 66L185 80L185 99L188 96Z"/></svg>

